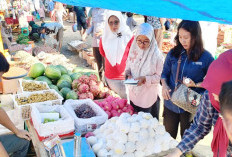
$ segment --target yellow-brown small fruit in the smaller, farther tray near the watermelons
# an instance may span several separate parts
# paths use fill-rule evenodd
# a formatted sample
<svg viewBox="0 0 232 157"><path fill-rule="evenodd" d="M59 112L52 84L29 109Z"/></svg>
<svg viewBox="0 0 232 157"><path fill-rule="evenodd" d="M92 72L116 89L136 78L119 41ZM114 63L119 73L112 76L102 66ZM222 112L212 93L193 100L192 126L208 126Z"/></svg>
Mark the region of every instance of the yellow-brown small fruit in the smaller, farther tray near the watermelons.
<svg viewBox="0 0 232 157"><path fill-rule="evenodd" d="M22 81L23 91L33 92L40 90L48 90L46 84L36 82L25 82Z"/></svg>

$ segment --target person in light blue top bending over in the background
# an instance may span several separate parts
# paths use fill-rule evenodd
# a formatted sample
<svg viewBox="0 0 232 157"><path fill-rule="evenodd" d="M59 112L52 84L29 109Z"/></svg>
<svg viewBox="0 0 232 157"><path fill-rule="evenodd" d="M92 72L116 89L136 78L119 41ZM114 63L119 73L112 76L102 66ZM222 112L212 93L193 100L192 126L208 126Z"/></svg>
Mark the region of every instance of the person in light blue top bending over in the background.
<svg viewBox="0 0 232 157"><path fill-rule="evenodd" d="M41 38L46 43L46 35L48 34L55 34L54 39L56 39L57 42L59 42L59 48L58 51L60 52L62 48L62 41L63 41L63 26L58 22L51 22L51 23L45 23L43 27L40 30Z"/></svg>

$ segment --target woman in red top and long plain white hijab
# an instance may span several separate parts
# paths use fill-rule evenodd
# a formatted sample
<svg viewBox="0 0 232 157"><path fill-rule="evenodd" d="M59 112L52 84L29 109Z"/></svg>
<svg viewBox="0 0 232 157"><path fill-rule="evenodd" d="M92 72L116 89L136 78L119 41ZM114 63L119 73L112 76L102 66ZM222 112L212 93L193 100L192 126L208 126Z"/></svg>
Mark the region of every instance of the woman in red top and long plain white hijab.
<svg viewBox="0 0 232 157"><path fill-rule="evenodd" d="M121 12L108 11L99 50L105 59L105 80L109 88L126 98L123 84L125 67L133 41L132 32Z"/></svg>

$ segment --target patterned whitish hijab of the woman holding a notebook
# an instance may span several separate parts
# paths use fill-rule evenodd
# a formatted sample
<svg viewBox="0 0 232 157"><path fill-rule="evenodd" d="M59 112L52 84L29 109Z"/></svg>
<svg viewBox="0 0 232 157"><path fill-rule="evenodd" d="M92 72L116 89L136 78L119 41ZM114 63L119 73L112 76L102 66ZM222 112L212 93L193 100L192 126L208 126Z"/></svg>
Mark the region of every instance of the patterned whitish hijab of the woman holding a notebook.
<svg viewBox="0 0 232 157"><path fill-rule="evenodd" d="M141 50L136 42L139 35L145 35L150 40L150 46L146 50ZM143 23L137 28L135 39L131 45L127 68L130 69L132 77L151 76L156 73L158 62L163 62L163 55L160 52L155 40L154 29L148 23ZM140 86L133 87L135 91L140 91Z"/></svg>

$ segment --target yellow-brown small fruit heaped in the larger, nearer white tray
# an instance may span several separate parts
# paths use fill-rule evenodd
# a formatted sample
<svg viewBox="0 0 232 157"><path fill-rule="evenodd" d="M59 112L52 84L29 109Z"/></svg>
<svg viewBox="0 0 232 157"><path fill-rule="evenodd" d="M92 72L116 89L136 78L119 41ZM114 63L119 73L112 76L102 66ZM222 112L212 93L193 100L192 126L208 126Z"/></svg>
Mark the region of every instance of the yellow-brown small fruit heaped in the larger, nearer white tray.
<svg viewBox="0 0 232 157"><path fill-rule="evenodd" d="M36 102L44 102L49 100L57 100L58 97L52 92L44 92L41 94L31 94L28 97L16 97L18 105L32 104Z"/></svg>

